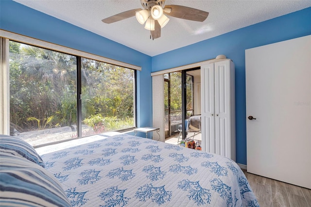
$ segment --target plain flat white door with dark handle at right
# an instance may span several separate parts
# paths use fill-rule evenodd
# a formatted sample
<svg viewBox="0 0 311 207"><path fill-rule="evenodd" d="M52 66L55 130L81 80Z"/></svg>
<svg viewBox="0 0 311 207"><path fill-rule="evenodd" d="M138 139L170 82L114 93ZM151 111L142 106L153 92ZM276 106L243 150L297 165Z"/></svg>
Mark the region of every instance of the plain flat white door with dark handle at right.
<svg viewBox="0 0 311 207"><path fill-rule="evenodd" d="M311 188L311 35L246 50L245 61L247 171Z"/></svg>

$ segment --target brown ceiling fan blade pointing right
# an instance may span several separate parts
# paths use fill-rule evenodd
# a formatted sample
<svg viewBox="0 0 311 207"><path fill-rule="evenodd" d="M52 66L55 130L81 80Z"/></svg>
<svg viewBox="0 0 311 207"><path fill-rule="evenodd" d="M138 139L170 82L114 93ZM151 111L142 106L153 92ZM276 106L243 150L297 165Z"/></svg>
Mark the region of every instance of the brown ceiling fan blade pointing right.
<svg viewBox="0 0 311 207"><path fill-rule="evenodd" d="M166 12L166 8L171 8L171 12ZM165 14L172 17L183 18L192 21L204 21L208 16L208 12L180 5L166 5L164 7L164 12Z"/></svg>

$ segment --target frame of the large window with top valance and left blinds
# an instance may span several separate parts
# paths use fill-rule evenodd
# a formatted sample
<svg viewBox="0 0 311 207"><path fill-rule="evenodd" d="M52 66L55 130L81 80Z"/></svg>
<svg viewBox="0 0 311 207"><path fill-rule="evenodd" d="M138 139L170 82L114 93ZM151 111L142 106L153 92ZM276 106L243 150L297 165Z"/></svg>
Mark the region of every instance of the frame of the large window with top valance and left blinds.
<svg viewBox="0 0 311 207"><path fill-rule="evenodd" d="M69 54L69 55L73 55L76 56L77 58L77 138L82 138L82 103L81 103L81 58L88 58L88 59L92 59L92 60L96 60L96 61L100 61L100 62L104 62L107 64L111 64L111 65L116 65L116 66L120 66L126 69L133 69L134 70L134 126L130 127L130 128L126 128L126 129L120 129L120 130L115 130L117 132L126 132L126 131L130 131L134 128L137 127L137 70L141 70L141 67L139 66L135 66L132 64L128 64L128 63L124 63L121 61L117 61L117 60L113 60L113 59L109 59L109 58L105 58L103 56L99 56L99 55L95 55L95 54L91 54L88 52L83 52L83 51L78 51L75 49L71 49L65 46L61 46L61 45L56 45L50 42L46 42L46 41L42 41L39 39L35 39L32 37L27 37L24 35L18 35L15 33L11 33L11 32L7 32L4 30L0 30L0 37L1 39L4 39L4 42L6 42L6 44L1 48L1 53L3 53L4 58L1 58L1 65L3 65L4 67L1 67L1 75L3 74L3 79L5 81L1 81L0 83L0 96L1 97L5 97L6 99L8 99L7 101L4 102L0 102L0 111L1 114L3 112L3 116L1 116L0 121L3 124L3 126L0 127L0 134L9 134L10 133L10 104L9 104L9 100L10 100L10 93L7 91L9 91L9 86L10 86L10 80L9 80L9 42L10 41L15 41L18 43L22 43L22 44L27 44L30 46L35 46L35 47L39 47L39 48L43 48L43 49L47 49L47 50L51 50L54 52L62 52L65 54ZM2 44L1 44L2 45ZM4 71L2 71L4 70ZM2 90L2 88L4 88L5 90ZM6 124L5 124L6 123ZM5 127L6 125L6 127ZM83 137L85 138L85 137ZM63 141L68 141L70 139L66 139ZM57 141L57 142L52 142L52 143L48 143L48 144L44 144L44 145L40 145L37 147L41 147L41 146L46 146L46 145L51 145L51 144L55 144L55 143L59 143L59 142L63 142L63 141Z"/></svg>

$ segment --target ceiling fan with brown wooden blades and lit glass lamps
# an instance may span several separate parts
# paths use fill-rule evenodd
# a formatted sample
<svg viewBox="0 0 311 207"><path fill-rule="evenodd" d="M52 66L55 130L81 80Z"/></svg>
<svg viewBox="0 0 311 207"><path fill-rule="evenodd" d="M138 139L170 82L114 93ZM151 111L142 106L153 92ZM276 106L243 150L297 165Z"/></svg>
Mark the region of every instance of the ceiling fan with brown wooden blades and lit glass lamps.
<svg viewBox="0 0 311 207"><path fill-rule="evenodd" d="M145 29L150 30L150 38L161 36L163 28L170 20L165 15L188 19L192 21L204 21L208 12L181 5L165 5L165 0L140 0L143 9L132 9L111 17L104 18L104 23L110 24L129 17L136 16L140 24L145 24Z"/></svg>

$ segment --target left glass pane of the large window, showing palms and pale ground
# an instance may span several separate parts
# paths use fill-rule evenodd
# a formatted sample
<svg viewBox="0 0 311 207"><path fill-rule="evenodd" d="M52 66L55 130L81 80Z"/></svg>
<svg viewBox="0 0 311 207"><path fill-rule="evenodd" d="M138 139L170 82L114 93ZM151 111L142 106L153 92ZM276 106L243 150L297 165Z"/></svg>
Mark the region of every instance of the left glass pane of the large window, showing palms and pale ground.
<svg viewBox="0 0 311 207"><path fill-rule="evenodd" d="M10 41L10 134L32 145L73 138L76 57Z"/></svg>

